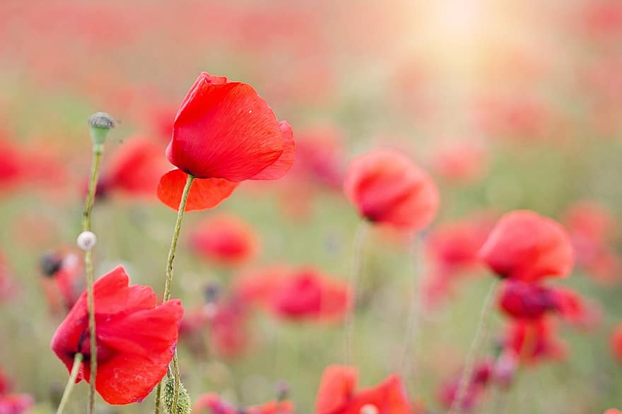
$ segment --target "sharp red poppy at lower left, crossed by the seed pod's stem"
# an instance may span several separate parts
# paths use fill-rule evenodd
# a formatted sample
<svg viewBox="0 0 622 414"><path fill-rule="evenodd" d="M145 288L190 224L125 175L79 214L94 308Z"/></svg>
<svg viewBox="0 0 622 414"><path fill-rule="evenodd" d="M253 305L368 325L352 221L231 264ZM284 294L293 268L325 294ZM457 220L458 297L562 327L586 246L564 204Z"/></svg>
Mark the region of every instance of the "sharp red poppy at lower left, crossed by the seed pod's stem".
<svg viewBox="0 0 622 414"><path fill-rule="evenodd" d="M168 369L183 309L180 300L157 305L148 286L128 286L121 266L95 281L98 372L95 389L110 404L145 398ZM71 371L76 353L84 360L77 381L90 378L86 292L54 333L51 347Z"/></svg>

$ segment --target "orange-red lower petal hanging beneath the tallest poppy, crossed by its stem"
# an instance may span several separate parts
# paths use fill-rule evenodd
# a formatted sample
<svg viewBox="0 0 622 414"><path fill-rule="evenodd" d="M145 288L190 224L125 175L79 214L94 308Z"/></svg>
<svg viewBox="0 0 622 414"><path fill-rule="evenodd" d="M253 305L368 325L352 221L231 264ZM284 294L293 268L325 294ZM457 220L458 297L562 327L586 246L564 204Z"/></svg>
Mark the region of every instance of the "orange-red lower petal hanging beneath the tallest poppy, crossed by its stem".
<svg viewBox="0 0 622 414"><path fill-rule="evenodd" d="M160 178L158 198L167 206L177 211L182 200L188 175L182 170L170 170ZM190 187L190 194L185 211L205 210L218 206L233 193L236 182L220 178L195 178Z"/></svg>

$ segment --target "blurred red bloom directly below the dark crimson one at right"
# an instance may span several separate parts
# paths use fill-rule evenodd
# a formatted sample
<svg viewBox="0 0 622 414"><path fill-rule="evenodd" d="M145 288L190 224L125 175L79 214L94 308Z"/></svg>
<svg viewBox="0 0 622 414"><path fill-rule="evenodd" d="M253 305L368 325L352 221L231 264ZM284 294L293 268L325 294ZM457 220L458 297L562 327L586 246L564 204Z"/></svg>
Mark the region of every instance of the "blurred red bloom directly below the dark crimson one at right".
<svg viewBox="0 0 622 414"><path fill-rule="evenodd" d="M520 362L534 364L542 360L560 360L565 346L555 337L553 321L541 317L534 321L512 320L507 326L503 348L518 355Z"/></svg>

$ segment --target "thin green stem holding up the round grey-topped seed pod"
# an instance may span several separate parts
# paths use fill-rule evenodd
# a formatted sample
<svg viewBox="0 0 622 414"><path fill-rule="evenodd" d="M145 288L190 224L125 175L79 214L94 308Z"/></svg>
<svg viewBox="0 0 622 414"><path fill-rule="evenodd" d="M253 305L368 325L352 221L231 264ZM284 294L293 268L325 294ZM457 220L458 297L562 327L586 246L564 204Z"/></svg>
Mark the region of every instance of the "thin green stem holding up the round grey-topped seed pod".
<svg viewBox="0 0 622 414"><path fill-rule="evenodd" d="M93 210L95 201L95 189L97 188L100 162L102 160L102 146L93 145L93 162L90 169L90 181L88 183L88 194L84 203L84 213L82 218L82 230L90 231L90 212ZM88 249L84 254L84 265L86 268L86 291L88 304L88 329L90 336L90 389L88 393L88 414L95 413L95 377L97 376L97 338L95 336L95 300L93 298L93 250Z"/></svg>

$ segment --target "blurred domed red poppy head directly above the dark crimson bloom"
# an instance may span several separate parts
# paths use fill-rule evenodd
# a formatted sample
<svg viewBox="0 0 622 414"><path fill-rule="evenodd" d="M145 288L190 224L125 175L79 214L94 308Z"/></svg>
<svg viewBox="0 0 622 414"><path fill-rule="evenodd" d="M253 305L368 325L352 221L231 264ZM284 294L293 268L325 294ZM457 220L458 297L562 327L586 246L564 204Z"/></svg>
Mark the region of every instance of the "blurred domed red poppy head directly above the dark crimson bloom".
<svg viewBox="0 0 622 414"><path fill-rule="evenodd" d="M563 278L573 268L573 248L563 227L532 211L500 218L479 256L500 278L528 283Z"/></svg>

